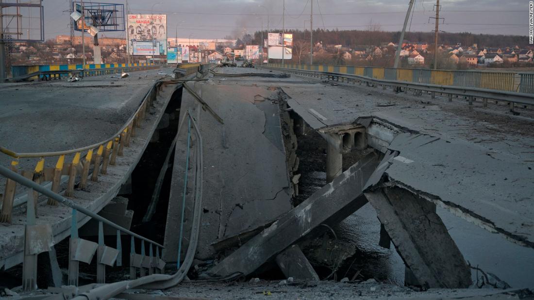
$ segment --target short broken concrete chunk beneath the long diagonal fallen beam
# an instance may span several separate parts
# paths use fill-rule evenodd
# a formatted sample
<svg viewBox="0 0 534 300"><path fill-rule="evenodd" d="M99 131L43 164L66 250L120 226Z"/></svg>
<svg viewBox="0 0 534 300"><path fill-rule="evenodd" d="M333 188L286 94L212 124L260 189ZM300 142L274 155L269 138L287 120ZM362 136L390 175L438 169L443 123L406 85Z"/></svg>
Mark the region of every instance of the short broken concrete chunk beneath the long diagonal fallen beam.
<svg viewBox="0 0 534 300"><path fill-rule="evenodd" d="M319 280L319 275L313 270L308 258L304 256L299 246L293 245L276 256L276 263L286 278L298 280Z"/></svg>

